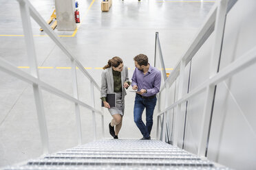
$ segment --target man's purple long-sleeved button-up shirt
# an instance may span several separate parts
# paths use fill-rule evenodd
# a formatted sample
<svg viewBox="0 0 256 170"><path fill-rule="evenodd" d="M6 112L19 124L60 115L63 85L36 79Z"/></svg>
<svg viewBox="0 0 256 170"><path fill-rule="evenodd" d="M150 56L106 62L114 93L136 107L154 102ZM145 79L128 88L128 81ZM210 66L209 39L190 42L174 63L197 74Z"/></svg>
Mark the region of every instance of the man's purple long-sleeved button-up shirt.
<svg viewBox="0 0 256 170"><path fill-rule="evenodd" d="M149 97L156 95L160 90L161 72L155 67L149 65L149 71L144 75L143 71L136 68L131 80L131 86L137 85L138 91L146 89L147 93L144 93L142 96Z"/></svg>

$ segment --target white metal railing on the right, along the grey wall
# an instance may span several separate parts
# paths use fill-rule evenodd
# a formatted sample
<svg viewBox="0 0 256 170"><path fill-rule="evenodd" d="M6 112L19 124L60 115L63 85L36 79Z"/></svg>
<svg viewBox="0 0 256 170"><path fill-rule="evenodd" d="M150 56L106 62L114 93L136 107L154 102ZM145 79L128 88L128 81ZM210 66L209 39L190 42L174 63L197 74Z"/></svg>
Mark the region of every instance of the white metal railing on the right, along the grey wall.
<svg viewBox="0 0 256 170"><path fill-rule="evenodd" d="M167 134L167 116L170 114L171 109L176 108L177 112L173 112L173 136L171 138L171 143L177 146L179 132L178 122L181 119L180 115L182 112L181 105L191 99L191 97L195 97L195 95L199 95L206 91L206 100L204 102L204 110L202 114L202 125L200 128L200 143L198 145L197 151L198 156L206 156L206 149L208 147L207 143L209 141L209 128L211 126L211 112L213 109L213 101L215 98L215 86L218 83L226 80L228 77L239 73L239 71L246 69L248 66L256 62L256 47L254 47L247 53L244 53L243 56L219 71L220 55L224 37L224 27L226 23L226 14L229 12L229 10L231 10L236 2L237 0L221 0L215 3L211 12L209 12L209 15L207 16L206 22L204 22L202 28L191 43L189 49L186 51L186 53L184 53L184 56L182 56L178 64L176 64L175 69L169 75L164 84L162 84L162 88L160 90L160 93L158 94L158 106L160 106L160 103L162 102L160 100L160 96L162 95L162 93L165 94L165 104L163 110L160 110L160 107L158 107L157 138L160 138L160 140L167 142L170 140L169 138L167 139L167 136L169 136L169 134ZM204 44L204 42L209 38L212 33L214 37L214 43L211 51L211 68L209 79L191 90L190 92L186 93L185 95L182 95L185 78L185 66L189 64L195 53L198 51L198 49L200 49L200 47ZM157 37L157 39L158 40L156 40L156 42L159 42L159 37ZM177 80L178 77L179 81ZM169 94L169 87L171 87L174 82L178 82L179 84L177 90L178 100L173 101L172 104L169 104L167 94ZM159 130L160 127L161 130Z"/></svg>

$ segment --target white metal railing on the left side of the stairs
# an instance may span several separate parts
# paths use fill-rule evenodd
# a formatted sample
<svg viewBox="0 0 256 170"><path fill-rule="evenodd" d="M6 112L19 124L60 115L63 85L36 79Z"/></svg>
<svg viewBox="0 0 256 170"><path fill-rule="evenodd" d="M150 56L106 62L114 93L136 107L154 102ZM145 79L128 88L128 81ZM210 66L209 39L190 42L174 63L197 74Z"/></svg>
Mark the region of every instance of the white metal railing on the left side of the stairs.
<svg viewBox="0 0 256 170"><path fill-rule="evenodd" d="M46 90L58 97L63 99L67 99L72 101L75 105L75 113L76 113L76 130L78 133L78 145L82 144L82 132L81 132L81 117L80 117L80 108L79 106L83 106L92 111L93 117L93 127L94 127L94 140L96 139L96 113L101 115L101 122L102 122L102 133L104 135L104 117L103 117L103 109L96 110L95 108L95 99L94 99L94 87L100 91L100 86L95 82L94 78L89 75L89 73L85 70L83 65L76 60L72 53L63 45L60 38L56 36L56 34L50 29L49 25L43 20L40 14L35 10L35 8L31 5L28 0L17 0L19 2L19 7L21 10L21 19L23 24L23 32L25 34L25 43L26 43L26 50L28 52L28 60L30 64L30 73L25 73L17 69L16 66L10 64L6 60L0 58L0 70L4 71L14 77L23 80L24 82L28 82L32 84L33 91L34 91L34 100L36 104L36 112L37 118L39 121L39 130L41 134L41 143L43 147L43 154L49 153L49 144L48 144L48 133L47 133L47 125L45 120L45 110L43 106L43 97L41 94L41 90ZM30 21L30 16L38 23L46 34L58 45L58 47L70 58L72 63L72 82L73 82L73 96L67 95L63 93L61 90L46 84L45 82L41 81L39 78L39 71L36 62L36 52L34 48L34 40L32 35L32 26ZM83 101L78 99L78 84L77 84L77 75L76 75L76 67L89 79L91 83L91 97L92 97L92 104L85 104Z"/></svg>

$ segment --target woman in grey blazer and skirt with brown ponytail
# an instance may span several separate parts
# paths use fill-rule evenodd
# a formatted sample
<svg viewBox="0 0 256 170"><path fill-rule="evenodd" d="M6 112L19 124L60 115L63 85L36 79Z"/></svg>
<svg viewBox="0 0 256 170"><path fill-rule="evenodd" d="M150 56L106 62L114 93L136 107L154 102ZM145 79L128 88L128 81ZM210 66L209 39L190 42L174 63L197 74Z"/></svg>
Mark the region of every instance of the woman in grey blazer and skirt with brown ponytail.
<svg viewBox="0 0 256 170"><path fill-rule="evenodd" d="M114 138L118 138L118 133L122 126L122 116L125 111L125 88L131 84L128 77L127 66L124 66L122 59L114 57L103 67L104 71L101 75L101 99L104 107L108 108L109 113L113 117L109 123L109 133ZM108 93L116 93L116 107L111 107L106 101ZM114 130L116 126L116 130Z"/></svg>

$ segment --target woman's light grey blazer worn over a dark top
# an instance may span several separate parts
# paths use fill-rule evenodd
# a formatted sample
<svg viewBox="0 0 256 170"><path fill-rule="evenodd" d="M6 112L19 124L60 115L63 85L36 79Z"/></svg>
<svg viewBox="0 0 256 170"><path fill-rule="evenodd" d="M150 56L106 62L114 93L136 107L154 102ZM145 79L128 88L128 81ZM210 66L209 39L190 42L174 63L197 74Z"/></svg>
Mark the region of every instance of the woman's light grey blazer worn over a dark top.
<svg viewBox="0 0 256 170"><path fill-rule="evenodd" d="M126 95L125 88L123 87L125 82L129 82L127 66L124 66L121 71L122 101L125 100ZM114 93L114 78L112 67L103 70L103 73L101 74L101 97L107 97L108 93Z"/></svg>

